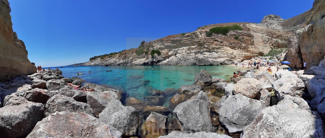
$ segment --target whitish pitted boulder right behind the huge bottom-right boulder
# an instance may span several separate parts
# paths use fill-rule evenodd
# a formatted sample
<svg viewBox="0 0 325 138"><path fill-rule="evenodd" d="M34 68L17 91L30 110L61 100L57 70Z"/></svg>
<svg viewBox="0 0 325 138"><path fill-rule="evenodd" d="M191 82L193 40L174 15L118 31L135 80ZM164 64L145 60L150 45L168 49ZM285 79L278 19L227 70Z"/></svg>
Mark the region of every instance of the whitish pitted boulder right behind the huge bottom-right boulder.
<svg viewBox="0 0 325 138"><path fill-rule="evenodd" d="M284 78L272 83L274 94L278 100L282 100L284 95L302 97L305 91L304 82L299 78Z"/></svg>

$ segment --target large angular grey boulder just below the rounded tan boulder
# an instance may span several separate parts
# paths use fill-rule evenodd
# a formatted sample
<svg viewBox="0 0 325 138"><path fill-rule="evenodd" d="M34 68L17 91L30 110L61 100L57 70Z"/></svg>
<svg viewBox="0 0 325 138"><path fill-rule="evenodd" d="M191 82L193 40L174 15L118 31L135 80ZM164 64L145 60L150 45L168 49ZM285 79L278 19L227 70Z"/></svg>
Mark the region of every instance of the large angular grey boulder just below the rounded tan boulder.
<svg viewBox="0 0 325 138"><path fill-rule="evenodd" d="M237 94L230 96L219 109L219 120L230 133L241 132L266 106L258 100Z"/></svg>

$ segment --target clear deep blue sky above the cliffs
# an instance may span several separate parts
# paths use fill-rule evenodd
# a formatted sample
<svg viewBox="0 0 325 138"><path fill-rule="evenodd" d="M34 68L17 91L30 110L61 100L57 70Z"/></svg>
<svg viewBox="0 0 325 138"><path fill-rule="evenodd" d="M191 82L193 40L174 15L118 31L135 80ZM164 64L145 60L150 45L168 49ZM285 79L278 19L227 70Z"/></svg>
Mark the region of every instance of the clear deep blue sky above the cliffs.
<svg viewBox="0 0 325 138"><path fill-rule="evenodd" d="M90 57L136 48L172 34L227 22L283 19L312 7L312 0L113 1L9 0L13 30L36 66L82 63Z"/></svg>

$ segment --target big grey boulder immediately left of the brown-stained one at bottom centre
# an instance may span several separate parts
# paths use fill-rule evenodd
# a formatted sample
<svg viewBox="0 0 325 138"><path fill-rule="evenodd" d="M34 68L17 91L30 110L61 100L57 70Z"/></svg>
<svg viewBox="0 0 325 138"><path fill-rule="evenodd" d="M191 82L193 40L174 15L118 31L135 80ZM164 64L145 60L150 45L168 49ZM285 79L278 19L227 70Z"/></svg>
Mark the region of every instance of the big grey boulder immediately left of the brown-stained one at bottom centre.
<svg viewBox="0 0 325 138"><path fill-rule="evenodd" d="M140 125L140 116L136 109L125 107L118 100L111 100L99 114L99 119L126 136L134 135Z"/></svg>

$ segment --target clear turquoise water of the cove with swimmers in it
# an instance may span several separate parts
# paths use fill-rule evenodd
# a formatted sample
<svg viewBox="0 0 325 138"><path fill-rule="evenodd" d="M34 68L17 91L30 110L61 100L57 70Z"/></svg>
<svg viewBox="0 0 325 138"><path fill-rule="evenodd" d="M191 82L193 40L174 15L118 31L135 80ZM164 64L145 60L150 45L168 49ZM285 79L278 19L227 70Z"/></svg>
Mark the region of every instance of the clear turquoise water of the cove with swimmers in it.
<svg viewBox="0 0 325 138"><path fill-rule="evenodd" d="M151 69L150 68L155 68ZM55 69L55 68L51 68ZM180 88L181 85L194 83L194 75L206 69L212 77L219 77L230 81L233 72L240 67L221 66L78 66L63 67L64 77L80 77L86 82L98 85L107 85L124 91L128 97L143 100L153 89ZM159 69L159 70L158 70ZM106 70L112 70L106 72ZM91 71L91 73L88 73ZM147 72L146 72L147 71ZM83 75L76 75L83 73ZM143 73L142 73L143 72Z"/></svg>

